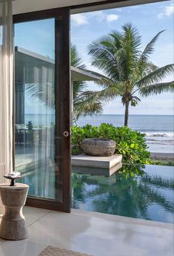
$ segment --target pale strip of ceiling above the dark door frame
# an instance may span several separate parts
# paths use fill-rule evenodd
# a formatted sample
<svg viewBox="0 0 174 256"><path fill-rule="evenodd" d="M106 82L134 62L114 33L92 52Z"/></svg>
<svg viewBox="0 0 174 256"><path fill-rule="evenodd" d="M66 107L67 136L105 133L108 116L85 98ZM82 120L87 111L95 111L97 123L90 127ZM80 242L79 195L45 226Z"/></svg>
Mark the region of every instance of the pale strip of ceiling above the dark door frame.
<svg viewBox="0 0 174 256"><path fill-rule="evenodd" d="M16 0L13 1L13 14L28 13L35 10L47 10L78 4L94 3L106 0Z"/></svg>

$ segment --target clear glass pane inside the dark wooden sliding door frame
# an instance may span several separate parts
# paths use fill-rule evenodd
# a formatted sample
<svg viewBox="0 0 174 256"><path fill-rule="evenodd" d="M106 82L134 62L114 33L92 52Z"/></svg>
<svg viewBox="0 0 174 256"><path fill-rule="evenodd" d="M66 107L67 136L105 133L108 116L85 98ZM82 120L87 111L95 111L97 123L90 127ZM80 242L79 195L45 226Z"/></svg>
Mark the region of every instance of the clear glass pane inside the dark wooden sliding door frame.
<svg viewBox="0 0 174 256"><path fill-rule="evenodd" d="M55 19L15 24L15 45L16 170L30 186L30 196L61 201L61 168L55 162Z"/></svg>

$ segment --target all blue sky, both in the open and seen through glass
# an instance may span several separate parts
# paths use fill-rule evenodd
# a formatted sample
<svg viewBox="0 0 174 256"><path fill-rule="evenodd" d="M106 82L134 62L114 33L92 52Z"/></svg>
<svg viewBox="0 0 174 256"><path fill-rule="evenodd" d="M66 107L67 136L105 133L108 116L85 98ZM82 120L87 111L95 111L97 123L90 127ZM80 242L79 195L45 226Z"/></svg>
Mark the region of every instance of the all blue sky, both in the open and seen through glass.
<svg viewBox="0 0 174 256"><path fill-rule="evenodd" d="M101 73L101 70L90 65L87 45L112 30L121 31L121 26L127 22L134 24L140 32L142 50L156 33L165 30L155 45L151 61L158 67L174 62L173 1L164 1L72 15L71 42L76 45L78 54L88 69ZM55 55L54 19L16 24L15 45L53 59ZM173 76L165 79L165 81L171 80ZM90 90L100 89L93 82L87 82L87 85ZM172 93L141 98L138 106L130 106L130 114L173 114L173 100ZM46 108L41 107L39 101L31 100L27 95L25 111L27 114L38 113L38 111L43 114L47 113ZM104 105L104 114L124 114L121 98L116 98Z"/></svg>

